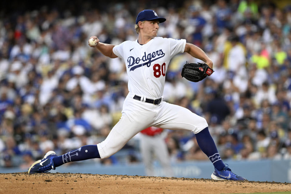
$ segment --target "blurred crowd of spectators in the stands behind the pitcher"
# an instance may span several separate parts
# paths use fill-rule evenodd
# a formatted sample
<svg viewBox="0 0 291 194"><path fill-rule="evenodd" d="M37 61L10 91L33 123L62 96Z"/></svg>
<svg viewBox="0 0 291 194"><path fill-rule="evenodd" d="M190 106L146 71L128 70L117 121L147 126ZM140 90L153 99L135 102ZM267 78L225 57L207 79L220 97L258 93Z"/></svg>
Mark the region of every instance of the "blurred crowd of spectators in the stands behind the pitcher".
<svg viewBox="0 0 291 194"><path fill-rule="evenodd" d="M126 66L88 39L114 45L137 39L135 18L143 9L167 19L158 36L184 38L212 59L215 72L193 83L181 77L182 65L201 61L176 55L164 100L206 118L222 159L291 159L291 6L78 3L0 12L0 166L27 169L49 150L59 155L106 138L128 93ZM170 162L207 160L194 134L166 132ZM82 162L140 162L138 141L137 135L109 159Z"/></svg>

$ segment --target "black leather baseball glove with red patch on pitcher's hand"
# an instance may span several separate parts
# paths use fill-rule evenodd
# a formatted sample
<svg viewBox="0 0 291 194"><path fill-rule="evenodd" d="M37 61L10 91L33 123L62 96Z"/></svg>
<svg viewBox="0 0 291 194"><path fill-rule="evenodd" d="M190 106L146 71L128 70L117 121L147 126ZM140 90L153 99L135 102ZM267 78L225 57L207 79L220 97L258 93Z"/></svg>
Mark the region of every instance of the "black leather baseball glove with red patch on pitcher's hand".
<svg viewBox="0 0 291 194"><path fill-rule="evenodd" d="M181 75L191 82L199 82L206 76L210 76L213 73L206 63L186 63L183 66Z"/></svg>

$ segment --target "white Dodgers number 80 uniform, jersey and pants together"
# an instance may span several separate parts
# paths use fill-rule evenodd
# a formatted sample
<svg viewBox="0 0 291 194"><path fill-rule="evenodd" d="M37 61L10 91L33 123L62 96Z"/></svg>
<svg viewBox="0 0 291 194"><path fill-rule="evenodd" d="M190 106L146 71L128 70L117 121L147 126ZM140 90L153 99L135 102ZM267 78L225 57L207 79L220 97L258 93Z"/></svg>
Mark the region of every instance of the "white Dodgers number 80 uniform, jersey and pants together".
<svg viewBox="0 0 291 194"><path fill-rule="evenodd" d="M164 101L157 105L146 102L146 98L162 97L169 62L173 56L184 52L185 45L185 39L156 37L144 45L136 40L113 47L114 54L126 64L129 94L123 103L119 122L107 138L97 144L101 158L116 153L134 135L151 126L193 133L208 126L204 118L184 107ZM139 95L141 100L134 99L135 95Z"/></svg>

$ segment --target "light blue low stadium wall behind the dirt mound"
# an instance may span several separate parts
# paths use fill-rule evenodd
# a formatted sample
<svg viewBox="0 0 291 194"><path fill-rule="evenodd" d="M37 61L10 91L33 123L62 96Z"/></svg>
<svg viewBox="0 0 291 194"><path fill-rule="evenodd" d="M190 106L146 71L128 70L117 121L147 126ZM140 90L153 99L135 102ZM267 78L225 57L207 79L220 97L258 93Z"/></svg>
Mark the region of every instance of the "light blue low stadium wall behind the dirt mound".
<svg viewBox="0 0 291 194"><path fill-rule="evenodd" d="M89 160L90 161L90 160ZM107 175L146 176L142 163L122 165L101 165L92 162L68 163L51 170L52 173L91 173ZM291 183L291 160L231 161L226 160L231 169L249 181L287 182ZM165 176L158 161L154 161L155 176ZM207 161L179 162L172 164L175 177L211 179L213 166ZM0 168L1 173L25 172L21 168Z"/></svg>

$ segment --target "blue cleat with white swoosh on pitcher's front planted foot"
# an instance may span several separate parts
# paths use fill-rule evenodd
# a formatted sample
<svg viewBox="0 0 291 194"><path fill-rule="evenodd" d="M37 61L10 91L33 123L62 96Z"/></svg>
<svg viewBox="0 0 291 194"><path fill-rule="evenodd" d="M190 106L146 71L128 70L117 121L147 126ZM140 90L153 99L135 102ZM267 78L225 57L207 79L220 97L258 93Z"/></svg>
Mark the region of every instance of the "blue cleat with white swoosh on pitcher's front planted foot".
<svg viewBox="0 0 291 194"><path fill-rule="evenodd" d="M235 173L231 172L231 169L228 167L228 164L226 164L222 171L218 171L217 169L215 169L211 175L211 178L214 180L234 180L234 181L246 180L242 176L238 176Z"/></svg>

